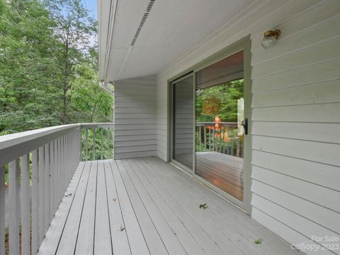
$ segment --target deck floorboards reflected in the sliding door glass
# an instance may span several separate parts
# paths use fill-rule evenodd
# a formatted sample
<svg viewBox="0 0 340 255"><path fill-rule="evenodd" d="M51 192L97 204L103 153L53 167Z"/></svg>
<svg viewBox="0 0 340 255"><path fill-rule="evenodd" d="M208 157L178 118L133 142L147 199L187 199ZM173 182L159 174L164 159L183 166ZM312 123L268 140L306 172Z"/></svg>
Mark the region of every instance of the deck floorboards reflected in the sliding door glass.
<svg viewBox="0 0 340 255"><path fill-rule="evenodd" d="M192 165L193 155L176 155L183 165ZM196 153L196 174L243 201L243 158L214 151Z"/></svg>

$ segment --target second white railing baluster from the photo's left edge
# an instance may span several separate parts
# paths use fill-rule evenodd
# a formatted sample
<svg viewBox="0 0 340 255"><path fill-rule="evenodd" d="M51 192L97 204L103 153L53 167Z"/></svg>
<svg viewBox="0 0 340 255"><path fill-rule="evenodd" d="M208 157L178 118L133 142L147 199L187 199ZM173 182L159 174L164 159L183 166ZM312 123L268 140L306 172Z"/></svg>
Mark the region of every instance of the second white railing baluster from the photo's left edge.
<svg viewBox="0 0 340 255"><path fill-rule="evenodd" d="M9 254L19 254L19 160L9 163Z"/></svg>

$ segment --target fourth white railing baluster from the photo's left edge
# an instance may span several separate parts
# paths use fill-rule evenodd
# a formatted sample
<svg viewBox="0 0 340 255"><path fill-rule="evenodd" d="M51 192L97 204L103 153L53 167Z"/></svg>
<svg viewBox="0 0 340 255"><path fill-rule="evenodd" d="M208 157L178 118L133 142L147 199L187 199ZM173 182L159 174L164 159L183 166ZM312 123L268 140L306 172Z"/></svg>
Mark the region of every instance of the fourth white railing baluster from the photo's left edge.
<svg viewBox="0 0 340 255"><path fill-rule="evenodd" d="M39 151L32 152L32 254L39 248Z"/></svg>

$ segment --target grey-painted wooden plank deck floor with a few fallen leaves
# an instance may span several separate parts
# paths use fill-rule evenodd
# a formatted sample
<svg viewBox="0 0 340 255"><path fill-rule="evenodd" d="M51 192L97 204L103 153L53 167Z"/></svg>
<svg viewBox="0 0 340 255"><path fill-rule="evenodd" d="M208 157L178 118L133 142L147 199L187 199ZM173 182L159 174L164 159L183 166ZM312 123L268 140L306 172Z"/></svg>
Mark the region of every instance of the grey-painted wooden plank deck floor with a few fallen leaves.
<svg viewBox="0 0 340 255"><path fill-rule="evenodd" d="M258 238L262 244L254 244ZM39 254L297 251L188 174L152 157L81 162Z"/></svg>

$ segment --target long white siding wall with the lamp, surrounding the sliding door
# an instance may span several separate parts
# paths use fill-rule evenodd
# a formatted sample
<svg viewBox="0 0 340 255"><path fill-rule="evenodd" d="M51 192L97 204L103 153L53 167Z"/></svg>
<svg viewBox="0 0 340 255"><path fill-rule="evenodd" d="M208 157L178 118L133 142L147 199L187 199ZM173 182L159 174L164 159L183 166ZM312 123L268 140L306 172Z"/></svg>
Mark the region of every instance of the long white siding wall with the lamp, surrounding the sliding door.
<svg viewBox="0 0 340 255"><path fill-rule="evenodd" d="M263 32L272 28L280 40L262 49ZM169 160L167 80L249 34L251 217L291 244L339 236L339 0L256 1L160 73L157 155Z"/></svg>

